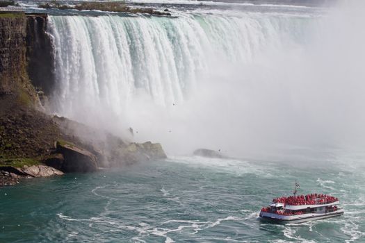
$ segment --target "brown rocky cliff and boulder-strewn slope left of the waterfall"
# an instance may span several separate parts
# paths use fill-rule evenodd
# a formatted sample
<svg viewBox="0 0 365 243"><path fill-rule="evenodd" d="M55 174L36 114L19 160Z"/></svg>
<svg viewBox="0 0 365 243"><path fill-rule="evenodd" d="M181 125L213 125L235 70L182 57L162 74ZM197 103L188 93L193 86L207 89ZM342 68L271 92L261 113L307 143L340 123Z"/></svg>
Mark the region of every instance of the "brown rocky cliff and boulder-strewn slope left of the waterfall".
<svg viewBox="0 0 365 243"><path fill-rule="evenodd" d="M40 90L50 94L54 81L46 30L47 15L0 12L0 185L165 158L160 144L124 142L42 111Z"/></svg>

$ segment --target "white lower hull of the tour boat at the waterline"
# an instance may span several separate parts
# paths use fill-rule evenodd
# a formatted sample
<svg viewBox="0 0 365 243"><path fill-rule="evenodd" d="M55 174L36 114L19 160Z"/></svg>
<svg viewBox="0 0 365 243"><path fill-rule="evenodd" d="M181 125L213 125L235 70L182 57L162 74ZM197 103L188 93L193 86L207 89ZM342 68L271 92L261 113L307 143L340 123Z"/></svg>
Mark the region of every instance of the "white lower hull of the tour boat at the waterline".
<svg viewBox="0 0 365 243"><path fill-rule="evenodd" d="M343 210L337 210L336 212L327 212L327 213L314 213L309 215L294 215L294 216L284 216L282 215L274 215L272 213L260 213L261 219L266 219L268 221L273 221L275 223L280 224L298 224L307 221L313 221L318 219L327 219L330 217L337 217L343 215Z"/></svg>

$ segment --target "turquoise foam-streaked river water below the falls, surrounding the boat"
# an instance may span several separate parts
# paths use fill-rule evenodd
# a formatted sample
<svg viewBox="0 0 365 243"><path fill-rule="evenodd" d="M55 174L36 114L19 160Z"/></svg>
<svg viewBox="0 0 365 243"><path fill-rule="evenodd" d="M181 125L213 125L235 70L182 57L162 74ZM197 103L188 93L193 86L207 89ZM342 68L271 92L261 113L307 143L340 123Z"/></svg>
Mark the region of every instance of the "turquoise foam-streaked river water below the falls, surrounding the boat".
<svg viewBox="0 0 365 243"><path fill-rule="evenodd" d="M364 242L364 167L169 158L0 189L0 242ZM268 224L275 196L339 197L341 217Z"/></svg>

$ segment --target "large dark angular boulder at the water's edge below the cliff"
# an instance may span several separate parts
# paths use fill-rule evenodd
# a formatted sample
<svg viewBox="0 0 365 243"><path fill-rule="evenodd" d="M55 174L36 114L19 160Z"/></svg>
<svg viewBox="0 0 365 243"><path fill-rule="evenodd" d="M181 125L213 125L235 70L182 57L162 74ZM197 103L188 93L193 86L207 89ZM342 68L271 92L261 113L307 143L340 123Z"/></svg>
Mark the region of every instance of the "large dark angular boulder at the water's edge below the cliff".
<svg viewBox="0 0 365 243"><path fill-rule="evenodd" d="M97 158L86 149L82 149L70 142L58 141L56 152L62 153L63 161L61 171L63 172L92 172L97 171Z"/></svg>

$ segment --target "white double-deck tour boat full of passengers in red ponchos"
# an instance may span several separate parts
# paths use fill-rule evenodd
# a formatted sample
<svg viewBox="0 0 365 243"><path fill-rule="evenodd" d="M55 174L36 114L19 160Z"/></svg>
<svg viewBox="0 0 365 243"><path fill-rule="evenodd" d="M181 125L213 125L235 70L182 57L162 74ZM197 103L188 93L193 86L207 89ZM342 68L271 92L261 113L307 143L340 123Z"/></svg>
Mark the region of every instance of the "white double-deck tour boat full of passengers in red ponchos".
<svg viewBox="0 0 365 243"><path fill-rule="evenodd" d="M270 206L262 208L260 217L282 223L302 223L316 219L325 219L343 215L343 209L337 207L339 199L326 194L297 195L295 182L293 196L273 199Z"/></svg>

